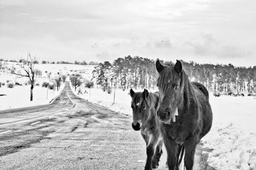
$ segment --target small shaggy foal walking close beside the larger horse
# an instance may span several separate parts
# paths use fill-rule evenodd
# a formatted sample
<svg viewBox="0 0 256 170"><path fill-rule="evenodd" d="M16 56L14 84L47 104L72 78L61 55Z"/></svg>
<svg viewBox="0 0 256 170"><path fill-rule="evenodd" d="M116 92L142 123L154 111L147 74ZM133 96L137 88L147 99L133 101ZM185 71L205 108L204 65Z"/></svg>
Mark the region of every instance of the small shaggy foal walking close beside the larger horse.
<svg viewBox="0 0 256 170"><path fill-rule="evenodd" d="M132 128L140 131L141 136L147 145L147 162L145 169L152 169L159 166L158 162L161 157L163 138L159 131L159 118L156 116L156 108L159 101L158 94L143 92L134 92L130 90L132 97Z"/></svg>

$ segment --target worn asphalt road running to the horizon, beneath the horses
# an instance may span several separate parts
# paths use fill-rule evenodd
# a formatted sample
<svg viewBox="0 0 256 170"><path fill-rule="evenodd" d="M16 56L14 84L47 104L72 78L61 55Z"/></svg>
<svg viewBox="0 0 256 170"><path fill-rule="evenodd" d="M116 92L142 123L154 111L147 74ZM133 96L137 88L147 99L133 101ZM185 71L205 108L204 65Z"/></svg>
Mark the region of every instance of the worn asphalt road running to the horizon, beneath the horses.
<svg viewBox="0 0 256 170"><path fill-rule="evenodd" d="M132 119L75 96L69 83L51 104L0 111L0 169L144 169ZM198 146L194 169L212 169ZM159 169L166 169L166 152Z"/></svg>

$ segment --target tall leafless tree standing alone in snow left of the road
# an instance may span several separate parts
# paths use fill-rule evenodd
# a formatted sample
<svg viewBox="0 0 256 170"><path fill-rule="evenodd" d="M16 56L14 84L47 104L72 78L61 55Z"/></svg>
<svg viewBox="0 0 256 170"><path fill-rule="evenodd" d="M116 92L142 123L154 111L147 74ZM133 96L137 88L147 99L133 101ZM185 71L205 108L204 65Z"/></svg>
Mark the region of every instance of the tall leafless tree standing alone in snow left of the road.
<svg viewBox="0 0 256 170"><path fill-rule="evenodd" d="M23 60L23 62L18 63L19 69L15 67L12 68L11 73L18 76L18 78L28 77L30 87L30 101L33 101L33 89L35 84L35 64L38 62L36 56L31 56L28 53L27 60Z"/></svg>

